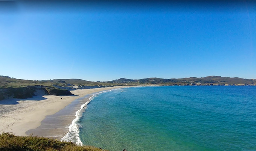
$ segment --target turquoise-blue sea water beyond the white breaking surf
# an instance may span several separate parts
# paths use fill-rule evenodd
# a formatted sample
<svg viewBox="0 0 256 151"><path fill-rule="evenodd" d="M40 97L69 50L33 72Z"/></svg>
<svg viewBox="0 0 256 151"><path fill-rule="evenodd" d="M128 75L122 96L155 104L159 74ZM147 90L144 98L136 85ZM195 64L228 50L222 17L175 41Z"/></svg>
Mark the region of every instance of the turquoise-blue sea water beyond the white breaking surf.
<svg viewBox="0 0 256 151"><path fill-rule="evenodd" d="M256 86L155 86L94 95L84 145L111 151L256 150Z"/></svg>

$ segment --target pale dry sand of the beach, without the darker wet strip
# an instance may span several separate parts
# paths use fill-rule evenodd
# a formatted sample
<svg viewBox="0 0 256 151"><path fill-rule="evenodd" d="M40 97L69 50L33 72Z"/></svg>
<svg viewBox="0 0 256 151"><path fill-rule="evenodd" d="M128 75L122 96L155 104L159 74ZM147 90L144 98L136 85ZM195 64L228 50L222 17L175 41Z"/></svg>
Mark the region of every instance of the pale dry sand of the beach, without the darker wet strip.
<svg viewBox="0 0 256 151"><path fill-rule="evenodd" d="M37 96L29 99L12 98L9 100L0 101L0 133L11 132L15 135L27 136L28 134L26 134L26 132L39 127L41 125L41 121L43 121L46 116L59 112L76 99L100 91L127 87L134 86L76 89L74 91L70 91L72 94L74 94L73 96L43 95L43 92L37 92ZM75 116L72 115L70 117L71 119L66 121L70 123L66 124L71 124L72 118L74 117ZM52 131L51 133L59 132Z"/></svg>

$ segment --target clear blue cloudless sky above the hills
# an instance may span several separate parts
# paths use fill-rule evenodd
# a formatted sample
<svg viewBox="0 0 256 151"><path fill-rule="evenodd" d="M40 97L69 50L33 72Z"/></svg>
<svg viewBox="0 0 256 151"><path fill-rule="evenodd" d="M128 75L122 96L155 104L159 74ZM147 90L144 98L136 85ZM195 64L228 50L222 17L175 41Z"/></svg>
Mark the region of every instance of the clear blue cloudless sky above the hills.
<svg viewBox="0 0 256 151"><path fill-rule="evenodd" d="M256 2L0 2L0 75L256 79Z"/></svg>

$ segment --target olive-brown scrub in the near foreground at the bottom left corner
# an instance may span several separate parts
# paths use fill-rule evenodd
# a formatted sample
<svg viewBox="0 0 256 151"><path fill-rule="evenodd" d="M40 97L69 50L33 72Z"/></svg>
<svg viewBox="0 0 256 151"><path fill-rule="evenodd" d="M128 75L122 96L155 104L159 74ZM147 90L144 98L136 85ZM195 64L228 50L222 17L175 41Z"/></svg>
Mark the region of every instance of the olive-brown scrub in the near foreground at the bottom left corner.
<svg viewBox="0 0 256 151"><path fill-rule="evenodd" d="M78 146L72 142L37 137L15 136L11 133L0 134L1 151L104 151L94 146Z"/></svg>

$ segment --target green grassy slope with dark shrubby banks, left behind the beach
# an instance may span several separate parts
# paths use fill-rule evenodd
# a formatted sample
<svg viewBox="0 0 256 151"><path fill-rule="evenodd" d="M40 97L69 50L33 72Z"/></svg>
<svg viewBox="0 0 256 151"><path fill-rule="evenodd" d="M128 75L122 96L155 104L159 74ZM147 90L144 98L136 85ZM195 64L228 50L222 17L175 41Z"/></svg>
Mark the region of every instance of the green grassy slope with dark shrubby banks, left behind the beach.
<svg viewBox="0 0 256 151"><path fill-rule="evenodd" d="M38 89L46 95L73 95L69 90L113 86L104 82L89 82L80 79L22 80L0 75L0 100L8 97L31 98Z"/></svg>

